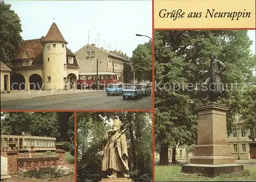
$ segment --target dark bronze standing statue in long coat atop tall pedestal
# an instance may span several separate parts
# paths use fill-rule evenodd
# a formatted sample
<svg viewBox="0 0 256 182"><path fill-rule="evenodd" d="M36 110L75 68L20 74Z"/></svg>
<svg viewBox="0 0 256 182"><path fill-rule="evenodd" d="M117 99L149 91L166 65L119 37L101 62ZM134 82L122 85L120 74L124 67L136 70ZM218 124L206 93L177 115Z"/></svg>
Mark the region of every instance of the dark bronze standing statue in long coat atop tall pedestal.
<svg viewBox="0 0 256 182"><path fill-rule="evenodd" d="M221 74L225 69L225 64L216 59L216 56L212 53L209 63L209 77L204 82L204 86L207 87L208 94L203 100L208 102L216 102L222 94L223 87L221 82Z"/></svg>

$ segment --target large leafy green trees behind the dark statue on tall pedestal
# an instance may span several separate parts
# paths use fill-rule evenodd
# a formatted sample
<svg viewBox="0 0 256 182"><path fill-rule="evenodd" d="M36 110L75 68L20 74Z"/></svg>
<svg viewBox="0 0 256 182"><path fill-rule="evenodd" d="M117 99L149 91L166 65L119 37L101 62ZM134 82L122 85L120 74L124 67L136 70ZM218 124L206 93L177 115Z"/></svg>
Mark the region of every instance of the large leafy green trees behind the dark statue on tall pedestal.
<svg viewBox="0 0 256 182"><path fill-rule="evenodd" d="M161 145L160 164L168 164L169 146L196 144L195 108L202 104L205 92L201 83L207 78L212 52L226 65L223 73L225 92L220 103L229 107L228 133L233 116L243 109L242 84L253 79L253 56L247 31L156 31L156 143ZM237 87L231 89L235 83ZM159 117L159 118L157 118ZM162 156L161 156L162 154Z"/></svg>

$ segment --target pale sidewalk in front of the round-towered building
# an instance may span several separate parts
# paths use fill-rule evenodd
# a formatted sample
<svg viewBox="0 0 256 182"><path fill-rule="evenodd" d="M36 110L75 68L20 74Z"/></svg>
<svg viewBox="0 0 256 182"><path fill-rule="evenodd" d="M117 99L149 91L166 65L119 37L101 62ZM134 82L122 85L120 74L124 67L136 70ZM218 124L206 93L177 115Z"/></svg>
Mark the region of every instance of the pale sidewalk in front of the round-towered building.
<svg viewBox="0 0 256 182"><path fill-rule="evenodd" d="M11 90L10 94L1 94L1 101L17 100L17 99L31 99L35 97L65 95L65 94L80 94L87 92L99 92L102 90L93 89L72 89L72 90ZM104 90L103 90L104 91Z"/></svg>

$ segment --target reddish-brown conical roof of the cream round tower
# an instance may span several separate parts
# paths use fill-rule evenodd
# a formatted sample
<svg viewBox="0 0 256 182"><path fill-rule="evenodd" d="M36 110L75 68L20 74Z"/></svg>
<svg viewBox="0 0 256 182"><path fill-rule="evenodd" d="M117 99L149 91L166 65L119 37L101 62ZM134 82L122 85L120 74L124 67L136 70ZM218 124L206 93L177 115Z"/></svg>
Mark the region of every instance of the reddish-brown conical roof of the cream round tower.
<svg viewBox="0 0 256 182"><path fill-rule="evenodd" d="M57 25L55 24L55 22L53 22L50 30L48 31L46 37L44 38L44 40L41 41L41 43L45 43L45 42L62 42L62 43L68 43L62 36L62 34L60 33Z"/></svg>

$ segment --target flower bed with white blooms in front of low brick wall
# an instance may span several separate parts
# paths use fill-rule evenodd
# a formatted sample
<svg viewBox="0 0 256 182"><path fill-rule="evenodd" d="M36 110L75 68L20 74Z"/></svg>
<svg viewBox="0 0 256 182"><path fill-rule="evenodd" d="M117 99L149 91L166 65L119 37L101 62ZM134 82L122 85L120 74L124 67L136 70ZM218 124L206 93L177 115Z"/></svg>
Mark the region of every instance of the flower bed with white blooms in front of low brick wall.
<svg viewBox="0 0 256 182"><path fill-rule="evenodd" d="M74 174L72 168L65 166L51 166L39 169L25 169L17 172L18 176L32 179L53 179Z"/></svg>

